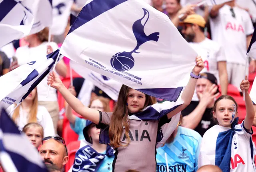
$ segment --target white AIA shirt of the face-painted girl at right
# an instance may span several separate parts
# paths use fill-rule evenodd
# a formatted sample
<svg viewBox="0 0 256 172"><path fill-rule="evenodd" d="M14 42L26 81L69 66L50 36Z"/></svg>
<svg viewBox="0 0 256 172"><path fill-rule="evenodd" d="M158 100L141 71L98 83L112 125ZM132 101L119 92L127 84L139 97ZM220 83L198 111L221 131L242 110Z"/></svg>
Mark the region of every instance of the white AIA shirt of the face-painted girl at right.
<svg viewBox="0 0 256 172"><path fill-rule="evenodd" d="M254 147L250 144L252 140L251 133L247 132L243 126L244 121L235 126L235 129L242 129L241 131L235 131L232 139L231 147L231 161L230 161L230 172L255 172L254 164ZM204 133L201 141L200 154L198 157L198 168L204 165L212 164L215 165L215 154L216 154L216 142L218 134L229 130L228 127L221 127L215 125ZM218 148L218 149L221 149ZM224 147L225 151L226 148ZM251 151L253 156L251 156Z"/></svg>

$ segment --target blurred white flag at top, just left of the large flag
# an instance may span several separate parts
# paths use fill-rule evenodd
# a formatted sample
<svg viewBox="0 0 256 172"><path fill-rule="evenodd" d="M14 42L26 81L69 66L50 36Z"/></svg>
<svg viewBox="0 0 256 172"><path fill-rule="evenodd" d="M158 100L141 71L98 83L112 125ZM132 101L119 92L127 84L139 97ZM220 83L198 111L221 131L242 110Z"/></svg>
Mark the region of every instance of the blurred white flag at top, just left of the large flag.
<svg viewBox="0 0 256 172"><path fill-rule="evenodd" d="M52 34L61 35L65 32L72 4L73 0L52 0Z"/></svg>

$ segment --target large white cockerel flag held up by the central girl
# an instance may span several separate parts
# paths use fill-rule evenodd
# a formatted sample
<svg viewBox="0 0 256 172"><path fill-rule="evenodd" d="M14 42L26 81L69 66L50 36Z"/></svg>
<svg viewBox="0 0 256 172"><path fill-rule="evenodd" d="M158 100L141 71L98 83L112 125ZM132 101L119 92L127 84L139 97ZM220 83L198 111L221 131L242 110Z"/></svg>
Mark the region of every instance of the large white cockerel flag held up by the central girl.
<svg viewBox="0 0 256 172"><path fill-rule="evenodd" d="M168 16L138 0L87 2L60 52L148 95L176 101L196 52Z"/></svg>

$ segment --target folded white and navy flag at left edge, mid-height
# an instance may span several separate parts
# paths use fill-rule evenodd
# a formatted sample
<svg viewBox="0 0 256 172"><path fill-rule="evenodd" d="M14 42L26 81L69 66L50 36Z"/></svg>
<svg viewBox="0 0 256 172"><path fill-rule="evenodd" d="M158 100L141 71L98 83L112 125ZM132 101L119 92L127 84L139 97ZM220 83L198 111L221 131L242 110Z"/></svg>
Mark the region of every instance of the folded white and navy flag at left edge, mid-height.
<svg viewBox="0 0 256 172"><path fill-rule="evenodd" d="M53 67L59 50L47 55L47 58L36 58L30 63L6 73L0 77L0 106L8 108L12 103L20 103L48 75ZM62 55L60 55L62 58ZM59 59L60 59L59 58Z"/></svg>

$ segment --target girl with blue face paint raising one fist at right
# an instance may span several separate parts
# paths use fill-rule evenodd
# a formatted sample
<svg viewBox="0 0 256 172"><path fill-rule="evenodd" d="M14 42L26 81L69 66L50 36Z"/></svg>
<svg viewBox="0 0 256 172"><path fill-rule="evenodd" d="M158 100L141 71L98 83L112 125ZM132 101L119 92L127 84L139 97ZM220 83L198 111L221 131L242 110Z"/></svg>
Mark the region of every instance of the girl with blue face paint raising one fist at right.
<svg viewBox="0 0 256 172"><path fill-rule="evenodd" d="M240 89L245 91L246 116L237 124L237 103L229 95L220 96L213 107L213 118L218 125L206 131L202 138L198 168L212 164L223 172L255 172L252 124L254 107L249 96L250 83L243 80Z"/></svg>

